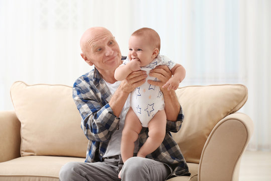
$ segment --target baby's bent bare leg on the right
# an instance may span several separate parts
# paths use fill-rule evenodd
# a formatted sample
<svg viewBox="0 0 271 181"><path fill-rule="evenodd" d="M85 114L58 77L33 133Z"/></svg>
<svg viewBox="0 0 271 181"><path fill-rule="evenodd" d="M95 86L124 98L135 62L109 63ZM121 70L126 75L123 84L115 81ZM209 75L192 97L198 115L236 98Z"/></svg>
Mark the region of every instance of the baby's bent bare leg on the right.
<svg viewBox="0 0 271 181"><path fill-rule="evenodd" d="M165 110L158 111L149 122L149 137L138 152L137 156L146 157L155 151L163 142L166 135L167 117Z"/></svg>

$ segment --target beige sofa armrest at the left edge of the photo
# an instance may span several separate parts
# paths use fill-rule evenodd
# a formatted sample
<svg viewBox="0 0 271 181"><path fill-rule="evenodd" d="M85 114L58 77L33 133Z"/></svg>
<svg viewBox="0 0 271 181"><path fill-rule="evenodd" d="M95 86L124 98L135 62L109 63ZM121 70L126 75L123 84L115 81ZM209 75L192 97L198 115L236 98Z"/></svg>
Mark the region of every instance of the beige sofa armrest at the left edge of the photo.
<svg viewBox="0 0 271 181"><path fill-rule="evenodd" d="M20 157L21 123L15 111L0 111L0 162Z"/></svg>

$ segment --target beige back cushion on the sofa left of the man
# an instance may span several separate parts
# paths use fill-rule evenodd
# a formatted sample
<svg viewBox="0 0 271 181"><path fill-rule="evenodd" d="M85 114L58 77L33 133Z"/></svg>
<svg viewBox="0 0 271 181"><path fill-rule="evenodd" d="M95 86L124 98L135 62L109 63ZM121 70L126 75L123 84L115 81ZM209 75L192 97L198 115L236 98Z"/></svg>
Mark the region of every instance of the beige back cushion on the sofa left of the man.
<svg viewBox="0 0 271 181"><path fill-rule="evenodd" d="M87 139L81 117L66 85L27 85L17 81L11 98L21 122L21 155L85 157Z"/></svg>

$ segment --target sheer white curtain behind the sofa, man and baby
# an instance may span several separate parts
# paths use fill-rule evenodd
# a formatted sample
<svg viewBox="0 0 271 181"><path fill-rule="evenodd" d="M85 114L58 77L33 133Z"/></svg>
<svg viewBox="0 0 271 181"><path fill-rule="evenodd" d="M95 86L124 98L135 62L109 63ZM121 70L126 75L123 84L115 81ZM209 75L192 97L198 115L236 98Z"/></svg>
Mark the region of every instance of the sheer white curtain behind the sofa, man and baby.
<svg viewBox="0 0 271 181"><path fill-rule="evenodd" d="M126 55L129 35L150 27L161 54L186 68L180 86L248 87L248 149L271 151L270 18L269 0L0 0L0 110L13 109L16 80L72 86L88 72L79 47L87 28L108 28Z"/></svg>

